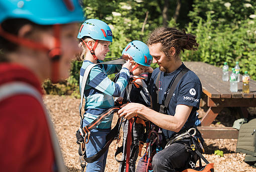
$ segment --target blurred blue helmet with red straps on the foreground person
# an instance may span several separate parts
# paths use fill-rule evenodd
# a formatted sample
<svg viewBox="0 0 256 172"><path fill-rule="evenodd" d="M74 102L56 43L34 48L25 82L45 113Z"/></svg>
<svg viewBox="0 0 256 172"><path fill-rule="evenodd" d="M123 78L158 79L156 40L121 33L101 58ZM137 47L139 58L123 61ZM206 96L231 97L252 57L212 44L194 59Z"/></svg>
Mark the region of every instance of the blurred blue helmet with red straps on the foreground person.
<svg viewBox="0 0 256 172"><path fill-rule="evenodd" d="M53 25L54 48L4 30L1 23L12 18L24 18L39 25ZM59 59L62 55L60 24L82 20L84 14L78 0L0 0L0 36L10 42L47 52L52 60L51 80L54 83L59 79Z"/></svg>

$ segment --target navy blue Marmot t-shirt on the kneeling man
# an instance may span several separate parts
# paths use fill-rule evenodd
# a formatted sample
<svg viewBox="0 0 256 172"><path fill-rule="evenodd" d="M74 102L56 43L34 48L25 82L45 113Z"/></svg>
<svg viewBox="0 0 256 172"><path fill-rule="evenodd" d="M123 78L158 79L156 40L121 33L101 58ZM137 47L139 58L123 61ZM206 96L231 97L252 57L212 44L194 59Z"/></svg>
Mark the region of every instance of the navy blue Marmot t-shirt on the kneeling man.
<svg viewBox="0 0 256 172"><path fill-rule="evenodd" d="M152 103L153 103L154 110L158 110L156 109L156 104L157 104L156 84L159 85L159 103L164 104L165 98L169 92L169 88L171 87L171 84L173 83L177 74L184 67L185 65L182 63L182 65L178 69L176 69L171 73L165 73L161 71L159 83L156 83L156 79L157 79L158 73L160 72L160 69L156 68L153 71L152 77L148 86L148 90L152 96L152 101L153 101ZM174 116L175 109L178 104L193 106L191 113L188 117L188 120L186 121L182 129L192 127L195 124L196 110L199 109L201 94L202 94L202 85L201 85L200 79L193 71L189 70L187 73L184 74L184 76L178 82L177 87L173 92L173 96L169 102L169 106L167 108L167 114ZM165 134L166 138L170 138L175 132L163 129L163 133Z"/></svg>

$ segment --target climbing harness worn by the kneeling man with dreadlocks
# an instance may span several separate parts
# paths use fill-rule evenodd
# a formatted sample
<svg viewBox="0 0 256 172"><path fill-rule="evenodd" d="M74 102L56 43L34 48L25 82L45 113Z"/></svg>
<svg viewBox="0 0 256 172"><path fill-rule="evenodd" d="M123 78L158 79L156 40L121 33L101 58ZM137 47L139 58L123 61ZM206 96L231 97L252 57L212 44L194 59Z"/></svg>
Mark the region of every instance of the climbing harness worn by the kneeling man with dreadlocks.
<svg viewBox="0 0 256 172"><path fill-rule="evenodd" d="M156 86L157 86L157 103L155 103L156 105L153 107L154 109L156 109L157 111L159 111L160 113L164 113L167 114L167 109L169 106L169 102L172 98L172 95L174 93L175 88L177 87L180 79L189 71L189 69L187 67L184 67L181 69L181 71L176 75L176 77L174 78L174 81L171 83L171 85L169 86L169 92L166 95L166 98L164 100L164 103L159 102L159 88L160 88L160 75L161 75L161 71L159 71L157 79L156 79ZM153 103L154 105L154 103ZM184 131L184 129L182 129L182 131ZM204 172L213 172L213 163L209 163L205 157L203 157L203 155L201 154L201 152L198 150L198 147L200 147L200 149L202 150L202 152L204 152L204 148L202 146L202 143L200 141L199 137L196 137L196 133L197 133L197 129L194 127L191 128L187 128L185 129L185 132L180 131L179 133L175 134L173 137L171 137L170 139L168 139L167 144L165 146L165 148L169 147L171 144L175 143L175 142L187 142L189 141L190 146L188 146L187 144L185 144L187 151L191 151L191 159L188 162L188 165L191 166L192 168L188 168L183 170L182 172L192 172L192 171L204 171ZM154 139L150 140L150 143L154 143L154 140L157 140L157 137ZM153 140L153 141L152 141ZM146 171L153 171L152 169L152 164L151 164L151 160L153 158L153 156L155 155L155 152L159 151L160 148L155 148L155 149L151 149L152 144L149 144L149 148L147 149L147 152L145 153L145 156L140 159L138 166L141 167L143 170L141 171L145 171L145 166L146 166ZM156 145L155 145L156 146ZM155 152L154 152L155 151ZM198 156L196 156L196 154L200 157L199 158L199 167L195 167L195 163L194 161L198 160ZM207 163L207 165L202 166L201 164L201 158ZM194 159L194 160L192 160ZM144 162L144 163L143 163ZM147 164L147 165L146 165ZM141 172L140 171L140 172ZM137 171L139 172L139 170Z"/></svg>

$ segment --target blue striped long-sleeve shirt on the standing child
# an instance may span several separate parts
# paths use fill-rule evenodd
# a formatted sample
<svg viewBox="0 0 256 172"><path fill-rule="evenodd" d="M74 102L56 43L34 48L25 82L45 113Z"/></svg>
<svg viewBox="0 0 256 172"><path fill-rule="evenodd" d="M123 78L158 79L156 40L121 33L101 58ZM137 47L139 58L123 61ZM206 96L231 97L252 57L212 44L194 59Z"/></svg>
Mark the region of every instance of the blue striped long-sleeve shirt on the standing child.
<svg viewBox="0 0 256 172"><path fill-rule="evenodd" d="M97 61L102 62L100 60ZM91 61L84 60L80 69L80 78ZM112 74L120 71L118 80L114 83L107 77L107 74ZM102 112L114 105L113 96L120 96L120 93L125 89L130 78L130 72L127 68L121 68L120 64L99 64L92 67L84 89L84 117L88 122L92 122ZM81 88L80 79L80 88ZM97 127L110 128L113 114L106 117Z"/></svg>

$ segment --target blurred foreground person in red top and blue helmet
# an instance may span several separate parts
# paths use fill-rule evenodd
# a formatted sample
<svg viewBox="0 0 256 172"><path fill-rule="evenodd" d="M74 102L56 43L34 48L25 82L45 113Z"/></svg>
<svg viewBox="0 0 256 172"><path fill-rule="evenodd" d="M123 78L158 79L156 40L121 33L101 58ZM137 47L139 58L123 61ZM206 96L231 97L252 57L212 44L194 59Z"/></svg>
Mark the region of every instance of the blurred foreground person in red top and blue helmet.
<svg viewBox="0 0 256 172"><path fill-rule="evenodd" d="M77 0L0 0L2 171L65 171L41 85L68 77L82 20Z"/></svg>

